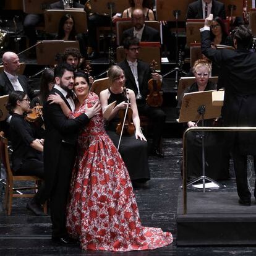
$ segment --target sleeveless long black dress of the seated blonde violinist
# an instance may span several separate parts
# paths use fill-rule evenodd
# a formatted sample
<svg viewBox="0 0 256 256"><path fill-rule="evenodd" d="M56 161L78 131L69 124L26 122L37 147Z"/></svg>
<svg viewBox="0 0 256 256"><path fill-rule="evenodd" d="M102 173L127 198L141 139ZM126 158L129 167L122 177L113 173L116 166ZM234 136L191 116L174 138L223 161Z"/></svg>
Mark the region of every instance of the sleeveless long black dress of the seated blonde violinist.
<svg viewBox="0 0 256 256"><path fill-rule="evenodd" d="M113 93L109 89L110 96L108 104L116 101L116 105L121 103L127 98L123 93ZM119 142L119 135L116 134L116 126L120 119L118 114L111 119L106 126L107 134L113 140L114 145L117 147ZM144 140L136 140L135 135L122 135L119 153L122 160L126 164L129 171L130 179L132 181L148 181L150 179L150 171L148 168L148 143Z"/></svg>

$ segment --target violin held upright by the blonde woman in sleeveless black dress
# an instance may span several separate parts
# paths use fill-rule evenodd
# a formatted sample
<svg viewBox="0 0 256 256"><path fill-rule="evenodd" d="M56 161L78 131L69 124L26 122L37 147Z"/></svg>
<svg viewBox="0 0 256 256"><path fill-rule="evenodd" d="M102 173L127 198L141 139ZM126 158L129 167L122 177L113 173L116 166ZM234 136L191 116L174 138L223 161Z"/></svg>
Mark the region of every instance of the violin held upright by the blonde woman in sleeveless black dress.
<svg viewBox="0 0 256 256"><path fill-rule="evenodd" d="M124 96L127 96L127 89L124 87L123 90ZM132 135L135 132L135 126L132 122L132 108L129 107L130 99L127 101L126 109L119 109L118 116L120 118L120 122L116 126L116 134L122 135ZM121 138L120 138L121 139Z"/></svg>

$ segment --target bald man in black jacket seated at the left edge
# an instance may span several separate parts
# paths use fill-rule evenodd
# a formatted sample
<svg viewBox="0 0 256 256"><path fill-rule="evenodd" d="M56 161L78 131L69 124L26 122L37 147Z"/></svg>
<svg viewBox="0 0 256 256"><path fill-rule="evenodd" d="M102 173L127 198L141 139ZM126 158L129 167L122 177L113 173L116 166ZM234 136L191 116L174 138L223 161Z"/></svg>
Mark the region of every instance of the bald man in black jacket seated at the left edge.
<svg viewBox="0 0 256 256"><path fill-rule="evenodd" d="M25 92L30 99L34 93L30 89L25 75L19 75L20 60L17 54L7 51L2 55L4 71L0 74L0 96L10 94L12 91Z"/></svg>

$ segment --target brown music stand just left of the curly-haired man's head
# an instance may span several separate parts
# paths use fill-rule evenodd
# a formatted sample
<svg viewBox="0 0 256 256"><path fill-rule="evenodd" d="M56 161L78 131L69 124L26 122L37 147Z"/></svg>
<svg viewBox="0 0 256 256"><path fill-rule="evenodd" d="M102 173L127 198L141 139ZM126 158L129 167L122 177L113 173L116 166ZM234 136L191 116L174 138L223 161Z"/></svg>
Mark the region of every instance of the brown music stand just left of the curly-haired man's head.
<svg viewBox="0 0 256 256"><path fill-rule="evenodd" d="M78 41L45 40L36 46L36 60L38 65L54 66L66 48L79 49Z"/></svg>

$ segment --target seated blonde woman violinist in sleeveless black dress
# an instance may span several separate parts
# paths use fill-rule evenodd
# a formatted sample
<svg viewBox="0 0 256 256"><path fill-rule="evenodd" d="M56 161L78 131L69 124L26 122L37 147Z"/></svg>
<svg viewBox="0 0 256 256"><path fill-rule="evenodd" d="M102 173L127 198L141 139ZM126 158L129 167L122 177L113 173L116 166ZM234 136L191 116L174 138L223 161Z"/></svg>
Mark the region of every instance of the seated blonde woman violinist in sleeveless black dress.
<svg viewBox="0 0 256 256"><path fill-rule="evenodd" d="M130 179L134 186L140 186L150 179L148 168L148 149L147 140L140 129L140 117L137 110L135 93L124 88L124 71L119 66L111 66L108 70L110 87L100 93L100 102L103 112L106 107L116 101L116 106L108 117L106 126L107 133L114 145L118 145L120 135L116 134L116 126L120 122L119 111L125 110L127 104L132 109L132 116L129 116L130 122L135 126L135 133L122 134L119 152L129 171ZM127 103L129 100L130 103Z"/></svg>

